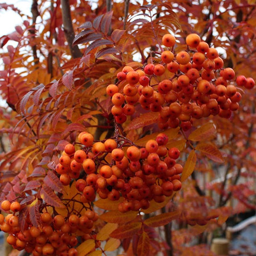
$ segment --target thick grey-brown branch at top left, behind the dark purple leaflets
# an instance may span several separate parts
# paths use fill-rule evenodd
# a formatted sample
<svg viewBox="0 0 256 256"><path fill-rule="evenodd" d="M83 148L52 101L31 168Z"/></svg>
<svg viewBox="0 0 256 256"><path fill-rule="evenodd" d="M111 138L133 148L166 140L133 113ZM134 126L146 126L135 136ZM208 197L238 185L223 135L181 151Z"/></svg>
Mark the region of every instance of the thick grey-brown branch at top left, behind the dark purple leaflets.
<svg viewBox="0 0 256 256"><path fill-rule="evenodd" d="M74 30L72 25L69 0L61 0L61 12L63 29L68 41L71 55L73 58L80 58L82 57L81 51L77 45L73 46Z"/></svg>

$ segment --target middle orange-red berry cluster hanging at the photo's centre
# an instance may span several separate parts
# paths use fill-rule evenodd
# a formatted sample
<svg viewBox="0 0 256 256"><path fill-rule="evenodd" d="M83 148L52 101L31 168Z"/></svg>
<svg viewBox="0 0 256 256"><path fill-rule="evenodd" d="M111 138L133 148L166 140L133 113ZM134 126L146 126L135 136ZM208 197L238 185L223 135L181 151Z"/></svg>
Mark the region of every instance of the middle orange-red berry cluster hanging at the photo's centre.
<svg viewBox="0 0 256 256"><path fill-rule="evenodd" d="M79 149L67 144L56 171L68 185L77 179L76 188L83 203L100 198L124 201L119 210L146 209L149 201L163 202L166 196L181 189L183 166L176 163L180 151L167 148L168 136L158 134L145 147L134 145L121 135L94 142L92 134L78 136Z"/></svg>

